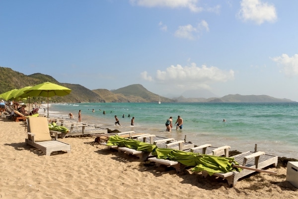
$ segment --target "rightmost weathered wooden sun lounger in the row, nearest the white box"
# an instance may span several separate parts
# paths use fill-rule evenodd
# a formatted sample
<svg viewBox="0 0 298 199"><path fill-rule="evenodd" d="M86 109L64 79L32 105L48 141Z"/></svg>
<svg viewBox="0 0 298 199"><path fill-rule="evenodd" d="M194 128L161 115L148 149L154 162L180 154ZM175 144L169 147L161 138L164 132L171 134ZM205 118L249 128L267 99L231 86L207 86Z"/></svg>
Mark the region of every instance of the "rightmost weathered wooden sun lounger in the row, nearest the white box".
<svg viewBox="0 0 298 199"><path fill-rule="evenodd" d="M274 167L276 167L277 161L278 161L277 156L267 155L261 151L259 152L247 151L245 153L235 155L233 156L233 158L237 163L239 163L239 165L242 165L244 167L248 167L251 169L263 169L270 165L273 165ZM235 171L235 172L228 172L228 173L215 173L214 176L218 176L226 179L228 185L230 187L233 187L240 178L254 172L256 171L243 169L240 172ZM208 176L208 173L206 171L203 171L202 177L206 178L207 176Z"/></svg>

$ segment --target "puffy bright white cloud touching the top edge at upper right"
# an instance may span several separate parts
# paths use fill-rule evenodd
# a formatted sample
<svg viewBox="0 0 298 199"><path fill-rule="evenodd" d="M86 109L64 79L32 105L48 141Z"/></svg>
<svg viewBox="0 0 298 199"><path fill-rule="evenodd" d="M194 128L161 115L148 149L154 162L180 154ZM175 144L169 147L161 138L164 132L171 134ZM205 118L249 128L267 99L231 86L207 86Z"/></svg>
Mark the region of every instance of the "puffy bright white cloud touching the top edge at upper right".
<svg viewBox="0 0 298 199"><path fill-rule="evenodd" d="M254 21L262 24L265 21L274 22L277 19L277 13L274 5L261 0L242 0L240 3L238 16L243 21Z"/></svg>

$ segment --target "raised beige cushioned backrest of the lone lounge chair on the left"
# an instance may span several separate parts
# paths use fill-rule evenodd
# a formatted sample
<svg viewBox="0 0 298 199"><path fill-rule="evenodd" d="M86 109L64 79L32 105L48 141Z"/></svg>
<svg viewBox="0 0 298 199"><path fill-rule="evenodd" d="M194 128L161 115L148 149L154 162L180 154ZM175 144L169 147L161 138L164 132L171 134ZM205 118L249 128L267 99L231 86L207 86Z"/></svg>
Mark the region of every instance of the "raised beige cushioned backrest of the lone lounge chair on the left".
<svg viewBox="0 0 298 199"><path fill-rule="evenodd" d="M52 137L46 117L28 117L28 130L35 134L35 142L50 141Z"/></svg>

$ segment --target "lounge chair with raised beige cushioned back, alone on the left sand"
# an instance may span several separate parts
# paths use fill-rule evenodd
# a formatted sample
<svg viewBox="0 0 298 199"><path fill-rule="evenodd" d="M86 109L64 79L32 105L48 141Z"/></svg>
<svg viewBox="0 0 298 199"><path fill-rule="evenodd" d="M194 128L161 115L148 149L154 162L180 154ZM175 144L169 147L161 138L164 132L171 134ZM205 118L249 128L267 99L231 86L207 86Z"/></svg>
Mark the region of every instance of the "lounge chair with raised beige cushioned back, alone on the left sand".
<svg viewBox="0 0 298 199"><path fill-rule="evenodd" d="M46 117L28 117L27 127L26 144L42 150L46 155L50 155L53 151L71 152L70 144L52 139Z"/></svg>

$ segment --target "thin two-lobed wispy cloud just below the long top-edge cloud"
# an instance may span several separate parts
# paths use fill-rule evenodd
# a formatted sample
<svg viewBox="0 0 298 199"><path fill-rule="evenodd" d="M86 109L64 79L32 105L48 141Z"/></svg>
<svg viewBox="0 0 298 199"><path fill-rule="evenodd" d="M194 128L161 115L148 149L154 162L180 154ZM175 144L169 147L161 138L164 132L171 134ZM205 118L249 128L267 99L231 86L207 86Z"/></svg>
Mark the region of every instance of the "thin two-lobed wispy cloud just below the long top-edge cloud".
<svg viewBox="0 0 298 199"><path fill-rule="evenodd" d="M204 30L209 31L209 25L205 20L202 20L200 23L198 23L197 27L194 27L191 24L179 26L178 30L175 31L175 36L194 40L198 38Z"/></svg>

